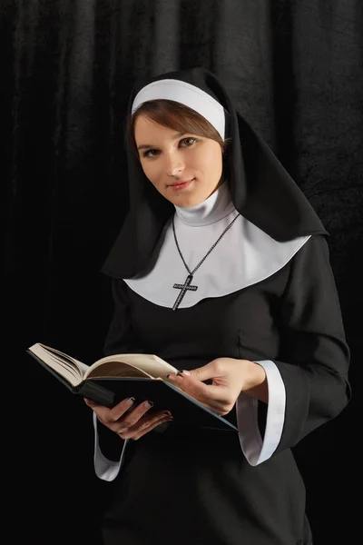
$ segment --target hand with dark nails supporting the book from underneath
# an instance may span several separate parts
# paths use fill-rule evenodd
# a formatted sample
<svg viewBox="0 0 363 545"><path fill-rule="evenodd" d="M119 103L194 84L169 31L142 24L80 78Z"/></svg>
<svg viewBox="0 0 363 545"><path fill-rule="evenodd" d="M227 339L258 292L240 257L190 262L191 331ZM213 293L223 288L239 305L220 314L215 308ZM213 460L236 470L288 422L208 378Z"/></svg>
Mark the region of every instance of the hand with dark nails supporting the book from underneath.
<svg viewBox="0 0 363 545"><path fill-rule="evenodd" d="M117 433L122 439L136 441L163 422L172 421L170 411L152 411L149 413L148 411L152 409L150 401L143 401L130 411L134 403L132 398L120 401L113 409L108 409L86 398L83 399L86 405L95 412L98 420L109 430Z"/></svg>

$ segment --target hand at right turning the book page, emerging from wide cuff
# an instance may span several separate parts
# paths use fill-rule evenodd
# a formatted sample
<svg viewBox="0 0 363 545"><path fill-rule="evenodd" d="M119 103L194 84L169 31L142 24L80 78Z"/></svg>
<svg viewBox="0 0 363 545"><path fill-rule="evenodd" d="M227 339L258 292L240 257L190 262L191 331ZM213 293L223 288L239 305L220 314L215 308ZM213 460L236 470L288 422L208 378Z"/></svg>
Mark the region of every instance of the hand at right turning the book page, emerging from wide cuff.
<svg viewBox="0 0 363 545"><path fill-rule="evenodd" d="M221 416L231 411L241 391L267 402L266 372L249 360L217 358L198 369L171 373L168 378ZM204 383L210 379L211 384Z"/></svg>

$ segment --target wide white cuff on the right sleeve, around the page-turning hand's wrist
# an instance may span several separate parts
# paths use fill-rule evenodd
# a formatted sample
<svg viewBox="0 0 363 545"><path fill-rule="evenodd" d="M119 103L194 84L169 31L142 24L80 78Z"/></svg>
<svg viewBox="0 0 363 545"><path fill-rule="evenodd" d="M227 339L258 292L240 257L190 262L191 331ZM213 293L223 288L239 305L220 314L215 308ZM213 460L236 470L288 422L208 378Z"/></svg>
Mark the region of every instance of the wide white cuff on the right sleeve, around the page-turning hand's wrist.
<svg viewBox="0 0 363 545"><path fill-rule="evenodd" d="M275 363L270 360L255 363L265 370L269 388L269 405L263 441L258 423L259 401L242 391L236 403L240 446L252 466L268 460L276 451L281 439L286 407L285 384Z"/></svg>

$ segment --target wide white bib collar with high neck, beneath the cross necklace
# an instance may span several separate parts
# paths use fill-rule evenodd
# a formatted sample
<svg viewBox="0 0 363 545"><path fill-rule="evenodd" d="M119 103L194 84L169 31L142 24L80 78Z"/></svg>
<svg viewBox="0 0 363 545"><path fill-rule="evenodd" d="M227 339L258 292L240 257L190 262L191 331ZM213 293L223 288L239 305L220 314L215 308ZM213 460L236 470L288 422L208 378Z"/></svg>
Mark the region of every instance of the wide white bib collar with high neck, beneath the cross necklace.
<svg viewBox="0 0 363 545"><path fill-rule="evenodd" d="M236 217L237 210L231 202L227 183L203 203L175 209L178 243L192 271ZM188 291L179 308L238 292L269 278L289 263L308 240L309 236L301 236L279 243L240 215L195 272L191 283L198 289ZM152 259L152 269L124 282L149 302L172 309L180 293L173 285L183 284L189 274L176 248L172 220L165 226L161 242L158 254Z"/></svg>

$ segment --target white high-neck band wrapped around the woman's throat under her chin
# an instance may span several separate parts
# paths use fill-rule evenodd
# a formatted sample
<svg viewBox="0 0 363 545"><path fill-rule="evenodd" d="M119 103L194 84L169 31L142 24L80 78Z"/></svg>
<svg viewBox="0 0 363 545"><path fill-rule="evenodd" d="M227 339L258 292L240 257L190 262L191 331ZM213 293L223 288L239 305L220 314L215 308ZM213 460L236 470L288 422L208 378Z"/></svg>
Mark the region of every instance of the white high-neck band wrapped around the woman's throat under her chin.
<svg viewBox="0 0 363 545"><path fill-rule="evenodd" d="M227 182L222 183L208 199L196 206L191 208L175 206L176 214L181 222L191 227L201 227L219 222L234 210Z"/></svg>

